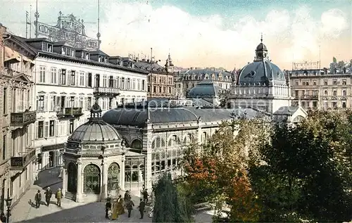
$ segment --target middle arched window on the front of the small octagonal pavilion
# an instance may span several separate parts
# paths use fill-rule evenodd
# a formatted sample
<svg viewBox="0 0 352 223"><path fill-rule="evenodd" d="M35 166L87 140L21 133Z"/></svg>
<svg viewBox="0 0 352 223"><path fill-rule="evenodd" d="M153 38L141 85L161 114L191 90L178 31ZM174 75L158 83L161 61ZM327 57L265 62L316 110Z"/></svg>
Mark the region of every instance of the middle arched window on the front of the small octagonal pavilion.
<svg viewBox="0 0 352 223"><path fill-rule="evenodd" d="M84 168L84 193L100 193L100 170L94 164Z"/></svg>

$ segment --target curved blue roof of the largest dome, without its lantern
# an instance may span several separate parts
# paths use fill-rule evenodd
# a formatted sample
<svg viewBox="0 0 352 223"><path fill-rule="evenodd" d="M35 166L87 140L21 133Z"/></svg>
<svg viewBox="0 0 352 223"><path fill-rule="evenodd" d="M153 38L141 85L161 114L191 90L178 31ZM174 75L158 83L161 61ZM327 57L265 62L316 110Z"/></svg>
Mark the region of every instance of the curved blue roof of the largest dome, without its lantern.
<svg viewBox="0 0 352 223"><path fill-rule="evenodd" d="M286 84L284 73L277 65L268 60L254 61L241 70L238 84L269 84L270 79L274 84Z"/></svg>

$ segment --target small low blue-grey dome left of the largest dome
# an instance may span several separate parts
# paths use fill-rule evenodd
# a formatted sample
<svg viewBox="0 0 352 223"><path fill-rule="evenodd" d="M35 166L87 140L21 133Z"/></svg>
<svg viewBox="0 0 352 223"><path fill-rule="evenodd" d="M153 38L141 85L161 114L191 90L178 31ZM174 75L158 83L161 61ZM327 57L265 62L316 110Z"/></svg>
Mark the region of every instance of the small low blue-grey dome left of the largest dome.
<svg viewBox="0 0 352 223"><path fill-rule="evenodd" d="M213 98L219 95L221 88L218 84L210 80L199 82L196 87L192 87L187 98Z"/></svg>

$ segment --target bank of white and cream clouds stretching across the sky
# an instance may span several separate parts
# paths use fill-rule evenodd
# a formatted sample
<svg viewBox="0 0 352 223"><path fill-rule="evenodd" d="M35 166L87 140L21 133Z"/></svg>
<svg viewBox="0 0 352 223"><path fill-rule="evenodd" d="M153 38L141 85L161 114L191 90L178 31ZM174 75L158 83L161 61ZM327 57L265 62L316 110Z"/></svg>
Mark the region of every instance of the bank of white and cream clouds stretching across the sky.
<svg viewBox="0 0 352 223"><path fill-rule="evenodd" d="M75 13L77 17L96 21L96 7L88 4L84 8L83 3L63 1L57 6L53 3L48 9L41 6L41 18L47 22L50 15L50 20L55 22L53 10L61 7L63 13L70 13L70 8L77 6L80 7L77 11L82 12L82 15ZM336 41L351 28L348 16L339 9L330 9L318 16L313 16L313 12L316 14L316 9L298 6L293 11L273 8L263 18L255 13L242 17L236 14L195 16L172 5L152 7L140 1L102 1L102 49L111 55L133 53L148 58L152 47L153 56L162 63L170 49L175 65L232 69L253 60L263 32L272 60L287 65L292 58L317 58L320 44ZM89 36L96 37L96 24L88 23L86 27Z"/></svg>

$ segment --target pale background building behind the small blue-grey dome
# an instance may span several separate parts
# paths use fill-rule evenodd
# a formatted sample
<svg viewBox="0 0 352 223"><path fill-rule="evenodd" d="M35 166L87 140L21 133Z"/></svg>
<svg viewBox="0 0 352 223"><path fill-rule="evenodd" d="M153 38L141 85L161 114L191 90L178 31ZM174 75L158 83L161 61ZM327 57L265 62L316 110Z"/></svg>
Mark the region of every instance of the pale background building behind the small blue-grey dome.
<svg viewBox="0 0 352 223"><path fill-rule="evenodd" d="M191 88L204 80L211 80L221 89L230 89L233 75L225 70L213 68L190 68L175 75L175 96L177 98L187 97Z"/></svg>

